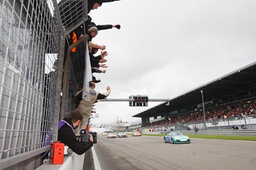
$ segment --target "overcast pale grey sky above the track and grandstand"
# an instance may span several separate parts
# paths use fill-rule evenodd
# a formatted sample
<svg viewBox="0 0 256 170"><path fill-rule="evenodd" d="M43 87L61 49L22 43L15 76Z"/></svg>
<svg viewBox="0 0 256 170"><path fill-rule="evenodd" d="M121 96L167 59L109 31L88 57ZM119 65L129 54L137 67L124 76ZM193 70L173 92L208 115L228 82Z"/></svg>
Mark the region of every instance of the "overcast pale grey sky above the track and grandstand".
<svg viewBox="0 0 256 170"><path fill-rule="evenodd" d="M106 45L107 73L94 73L98 92L111 87L108 99L131 95L170 98L244 67L256 59L256 1L121 0L104 3L90 16L97 25L120 24L100 31L93 42ZM132 118L148 107L129 102L100 102L93 123Z"/></svg>

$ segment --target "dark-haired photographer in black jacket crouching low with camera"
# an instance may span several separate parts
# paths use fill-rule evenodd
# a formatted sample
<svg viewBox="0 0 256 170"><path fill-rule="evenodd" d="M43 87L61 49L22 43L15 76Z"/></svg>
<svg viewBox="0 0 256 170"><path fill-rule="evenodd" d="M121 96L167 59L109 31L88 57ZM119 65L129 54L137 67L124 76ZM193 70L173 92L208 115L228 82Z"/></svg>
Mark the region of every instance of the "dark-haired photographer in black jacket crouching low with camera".
<svg viewBox="0 0 256 170"><path fill-rule="evenodd" d="M76 129L83 119L83 115L79 110L73 110L69 113L68 117L60 120L58 125L58 141L63 142L73 152L82 155L93 146L93 136L88 134L89 140L78 141L74 129Z"/></svg>

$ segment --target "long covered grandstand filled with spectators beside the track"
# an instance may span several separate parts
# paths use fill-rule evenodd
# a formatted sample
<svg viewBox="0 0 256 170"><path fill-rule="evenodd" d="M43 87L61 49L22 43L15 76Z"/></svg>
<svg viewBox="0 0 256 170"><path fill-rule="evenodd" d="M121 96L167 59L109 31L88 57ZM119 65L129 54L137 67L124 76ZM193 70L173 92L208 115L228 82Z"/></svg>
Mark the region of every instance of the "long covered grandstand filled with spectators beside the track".
<svg viewBox="0 0 256 170"><path fill-rule="evenodd" d="M203 128L204 124L209 129L230 129L233 124L247 124L247 128L255 129L255 80L256 62L253 62L133 117L140 117L143 127L161 129Z"/></svg>

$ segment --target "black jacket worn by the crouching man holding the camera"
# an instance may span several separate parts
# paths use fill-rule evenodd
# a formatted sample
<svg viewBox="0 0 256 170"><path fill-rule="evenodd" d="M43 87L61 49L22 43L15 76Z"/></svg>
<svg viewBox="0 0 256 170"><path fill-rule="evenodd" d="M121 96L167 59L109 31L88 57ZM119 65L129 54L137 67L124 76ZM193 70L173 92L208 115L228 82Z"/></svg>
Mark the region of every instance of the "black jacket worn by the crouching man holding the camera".
<svg viewBox="0 0 256 170"><path fill-rule="evenodd" d="M68 124L72 125L73 127L70 118L65 117L63 120L68 122ZM61 141L65 143L65 145L68 145L68 147L71 148L72 151L77 153L78 155L82 155L93 146L92 141L88 141L86 143L77 141L76 134L74 133L73 129L71 129L71 127L67 124L64 124L58 131L58 141Z"/></svg>

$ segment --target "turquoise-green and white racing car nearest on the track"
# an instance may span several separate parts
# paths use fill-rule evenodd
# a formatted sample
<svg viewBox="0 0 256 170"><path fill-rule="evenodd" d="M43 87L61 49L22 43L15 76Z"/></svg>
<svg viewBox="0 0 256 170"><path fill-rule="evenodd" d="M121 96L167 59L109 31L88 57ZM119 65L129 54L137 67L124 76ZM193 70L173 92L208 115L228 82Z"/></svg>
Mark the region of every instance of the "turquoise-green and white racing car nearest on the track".
<svg viewBox="0 0 256 170"><path fill-rule="evenodd" d="M180 132L170 132L164 136L164 143L190 143L190 139Z"/></svg>

